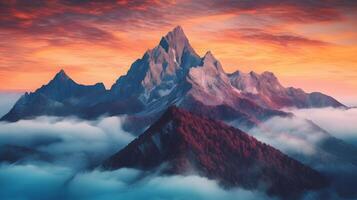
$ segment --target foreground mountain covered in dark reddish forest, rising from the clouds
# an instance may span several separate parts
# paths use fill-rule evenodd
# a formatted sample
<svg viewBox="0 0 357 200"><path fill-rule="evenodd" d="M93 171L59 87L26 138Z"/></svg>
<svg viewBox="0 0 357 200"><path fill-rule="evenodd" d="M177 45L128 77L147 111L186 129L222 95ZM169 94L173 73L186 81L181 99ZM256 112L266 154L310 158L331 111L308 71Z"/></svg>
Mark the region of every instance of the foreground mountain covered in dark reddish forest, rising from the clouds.
<svg viewBox="0 0 357 200"><path fill-rule="evenodd" d="M327 185L317 171L239 129L176 107L102 167L195 172L226 187L266 188L269 194L285 198Z"/></svg>

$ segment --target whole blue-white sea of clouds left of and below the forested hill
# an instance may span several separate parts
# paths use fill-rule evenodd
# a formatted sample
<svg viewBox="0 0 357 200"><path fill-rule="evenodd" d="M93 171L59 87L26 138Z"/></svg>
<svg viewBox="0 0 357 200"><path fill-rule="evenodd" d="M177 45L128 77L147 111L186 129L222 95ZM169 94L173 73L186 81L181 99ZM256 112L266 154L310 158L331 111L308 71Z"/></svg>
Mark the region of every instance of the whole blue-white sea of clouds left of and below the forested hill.
<svg viewBox="0 0 357 200"><path fill-rule="evenodd" d="M259 191L225 190L215 181L195 175L87 170L134 139L121 129L124 118L39 117L1 122L0 146L34 148L53 160L0 164L0 199L269 199Z"/></svg>

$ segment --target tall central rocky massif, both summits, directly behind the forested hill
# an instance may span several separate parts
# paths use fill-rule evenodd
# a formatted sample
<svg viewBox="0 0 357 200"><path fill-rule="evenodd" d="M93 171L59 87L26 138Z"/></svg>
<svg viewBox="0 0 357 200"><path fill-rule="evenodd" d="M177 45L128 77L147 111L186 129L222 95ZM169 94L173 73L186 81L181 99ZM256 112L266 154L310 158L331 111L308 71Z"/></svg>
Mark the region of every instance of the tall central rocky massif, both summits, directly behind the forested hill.
<svg viewBox="0 0 357 200"><path fill-rule="evenodd" d="M141 102L139 115L150 115L150 123L171 105L216 119L236 120L248 127L271 116L286 115L243 98L214 55L207 52L199 57L180 26L135 61L112 86L111 93L117 99Z"/></svg>

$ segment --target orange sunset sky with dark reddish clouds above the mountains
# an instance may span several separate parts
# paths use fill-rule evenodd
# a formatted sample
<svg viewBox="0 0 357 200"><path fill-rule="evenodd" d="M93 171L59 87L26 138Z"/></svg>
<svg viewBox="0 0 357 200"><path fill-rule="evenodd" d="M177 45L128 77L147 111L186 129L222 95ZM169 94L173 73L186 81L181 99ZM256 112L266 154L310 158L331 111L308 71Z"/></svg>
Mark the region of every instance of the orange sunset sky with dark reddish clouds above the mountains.
<svg viewBox="0 0 357 200"><path fill-rule="evenodd" d="M0 91L33 91L61 68L107 88L181 25L227 72L357 102L357 1L0 1Z"/></svg>

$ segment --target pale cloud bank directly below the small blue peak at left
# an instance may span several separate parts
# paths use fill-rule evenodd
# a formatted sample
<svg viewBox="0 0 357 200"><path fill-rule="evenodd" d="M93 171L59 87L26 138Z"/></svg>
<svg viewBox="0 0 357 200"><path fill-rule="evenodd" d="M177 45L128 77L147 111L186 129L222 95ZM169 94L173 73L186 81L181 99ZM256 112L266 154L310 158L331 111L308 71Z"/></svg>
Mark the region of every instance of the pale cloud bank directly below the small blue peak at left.
<svg viewBox="0 0 357 200"><path fill-rule="evenodd" d="M0 122L0 145L34 148L60 164L86 167L124 147L134 136L122 130L125 117L95 121L39 117L14 123Z"/></svg>

